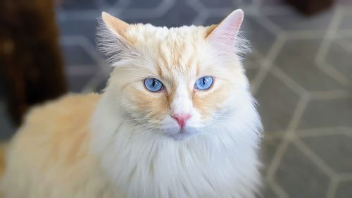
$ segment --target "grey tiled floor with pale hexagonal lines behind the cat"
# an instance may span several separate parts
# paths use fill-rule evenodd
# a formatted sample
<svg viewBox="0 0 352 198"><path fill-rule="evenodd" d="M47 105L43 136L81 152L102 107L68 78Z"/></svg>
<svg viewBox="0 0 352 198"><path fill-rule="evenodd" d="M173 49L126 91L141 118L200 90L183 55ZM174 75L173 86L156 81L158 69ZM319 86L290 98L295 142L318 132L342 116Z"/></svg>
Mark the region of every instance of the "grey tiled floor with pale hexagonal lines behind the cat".
<svg viewBox="0 0 352 198"><path fill-rule="evenodd" d="M65 2L58 24L75 92L100 91L111 71L95 48L101 11L170 27L218 23L244 8L253 46L245 66L265 125L263 197L352 197L352 1L313 17L282 0ZM1 132L11 131L0 121Z"/></svg>

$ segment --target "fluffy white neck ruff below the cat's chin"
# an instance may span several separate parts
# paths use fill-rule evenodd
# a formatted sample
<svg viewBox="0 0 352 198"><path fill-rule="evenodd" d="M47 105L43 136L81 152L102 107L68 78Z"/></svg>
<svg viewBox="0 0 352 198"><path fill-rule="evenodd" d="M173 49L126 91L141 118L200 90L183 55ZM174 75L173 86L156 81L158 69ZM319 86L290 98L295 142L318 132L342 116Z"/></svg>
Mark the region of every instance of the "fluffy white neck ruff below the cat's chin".
<svg viewBox="0 0 352 198"><path fill-rule="evenodd" d="M230 120L182 141L137 128L109 99L93 116L92 151L129 197L254 196L261 124L251 98Z"/></svg>

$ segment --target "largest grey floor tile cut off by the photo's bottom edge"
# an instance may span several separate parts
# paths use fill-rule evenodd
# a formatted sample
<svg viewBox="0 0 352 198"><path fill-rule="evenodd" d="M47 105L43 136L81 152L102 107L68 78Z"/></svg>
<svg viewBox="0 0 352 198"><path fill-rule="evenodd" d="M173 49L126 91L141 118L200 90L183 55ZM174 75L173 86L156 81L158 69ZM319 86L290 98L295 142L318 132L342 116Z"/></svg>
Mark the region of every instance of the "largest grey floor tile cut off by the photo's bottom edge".
<svg viewBox="0 0 352 198"><path fill-rule="evenodd" d="M277 168L275 180L290 197L325 197L329 178L290 144Z"/></svg>

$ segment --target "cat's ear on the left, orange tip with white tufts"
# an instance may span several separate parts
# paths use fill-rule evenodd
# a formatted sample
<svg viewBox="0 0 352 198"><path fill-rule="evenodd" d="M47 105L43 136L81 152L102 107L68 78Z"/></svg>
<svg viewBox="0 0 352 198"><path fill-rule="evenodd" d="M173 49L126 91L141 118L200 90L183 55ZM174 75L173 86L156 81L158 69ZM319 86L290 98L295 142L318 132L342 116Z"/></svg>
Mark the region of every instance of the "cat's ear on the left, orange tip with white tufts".
<svg viewBox="0 0 352 198"><path fill-rule="evenodd" d="M118 66L122 60L138 56L136 49L127 39L125 33L130 25L106 12L101 13L98 27L98 47L112 63Z"/></svg>

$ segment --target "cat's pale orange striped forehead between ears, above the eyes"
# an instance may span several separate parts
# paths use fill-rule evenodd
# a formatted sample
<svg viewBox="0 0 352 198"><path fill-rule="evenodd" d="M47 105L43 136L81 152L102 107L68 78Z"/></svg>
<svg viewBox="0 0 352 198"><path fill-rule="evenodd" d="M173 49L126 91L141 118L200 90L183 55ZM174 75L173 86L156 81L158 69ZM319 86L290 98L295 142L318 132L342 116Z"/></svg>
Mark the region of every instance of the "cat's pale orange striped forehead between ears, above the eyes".
<svg viewBox="0 0 352 198"><path fill-rule="evenodd" d="M154 27L134 25L127 32L134 44L144 49L162 78L189 78L198 75L206 60L209 27Z"/></svg>

